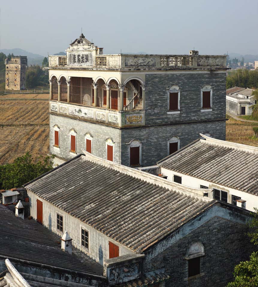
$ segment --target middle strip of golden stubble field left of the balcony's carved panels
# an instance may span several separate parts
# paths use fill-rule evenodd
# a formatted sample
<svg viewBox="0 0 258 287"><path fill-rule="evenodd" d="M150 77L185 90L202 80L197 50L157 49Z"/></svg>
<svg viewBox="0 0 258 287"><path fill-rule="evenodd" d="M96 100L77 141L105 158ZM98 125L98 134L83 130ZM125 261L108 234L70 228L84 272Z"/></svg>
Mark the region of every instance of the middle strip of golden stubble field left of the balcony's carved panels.
<svg viewBox="0 0 258 287"><path fill-rule="evenodd" d="M0 125L48 124L48 101L1 100Z"/></svg>

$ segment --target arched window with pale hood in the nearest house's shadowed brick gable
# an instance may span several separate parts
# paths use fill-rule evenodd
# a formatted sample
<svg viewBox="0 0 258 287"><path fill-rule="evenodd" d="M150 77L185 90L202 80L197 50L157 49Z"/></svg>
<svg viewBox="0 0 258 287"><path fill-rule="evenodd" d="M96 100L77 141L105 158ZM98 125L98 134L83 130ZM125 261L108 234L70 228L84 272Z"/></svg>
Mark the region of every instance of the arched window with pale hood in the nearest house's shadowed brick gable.
<svg viewBox="0 0 258 287"><path fill-rule="evenodd" d="M200 257L204 255L204 247L200 241L188 246L185 257L188 260L188 278L200 274Z"/></svg>

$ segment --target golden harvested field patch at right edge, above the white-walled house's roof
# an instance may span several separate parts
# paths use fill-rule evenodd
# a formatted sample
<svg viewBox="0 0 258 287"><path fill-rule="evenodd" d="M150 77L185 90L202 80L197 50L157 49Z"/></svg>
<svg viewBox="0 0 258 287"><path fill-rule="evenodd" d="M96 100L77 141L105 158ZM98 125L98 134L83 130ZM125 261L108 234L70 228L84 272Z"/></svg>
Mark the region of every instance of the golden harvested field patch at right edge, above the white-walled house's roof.
<svg viewBox="0 0 258 287"><path fill-rule="evenodd" d="M230 117L226 122L226 141L258 146L258 139L252 138L254 136L254 126L258 126L258 122L243 122Z"/></svg>

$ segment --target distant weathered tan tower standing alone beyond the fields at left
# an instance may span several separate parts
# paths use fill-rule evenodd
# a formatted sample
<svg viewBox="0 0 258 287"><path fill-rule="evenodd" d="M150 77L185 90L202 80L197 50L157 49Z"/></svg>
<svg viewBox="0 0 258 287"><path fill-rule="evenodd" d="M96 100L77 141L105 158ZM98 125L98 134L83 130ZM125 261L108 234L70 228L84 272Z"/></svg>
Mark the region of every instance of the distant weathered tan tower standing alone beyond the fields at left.
<svg viewBox="0 0 258 287"><path fill-rule="evenodd" d="M25 72L27 56L13 56L10 60L5 59L5 89L25 89Z"/></svg>

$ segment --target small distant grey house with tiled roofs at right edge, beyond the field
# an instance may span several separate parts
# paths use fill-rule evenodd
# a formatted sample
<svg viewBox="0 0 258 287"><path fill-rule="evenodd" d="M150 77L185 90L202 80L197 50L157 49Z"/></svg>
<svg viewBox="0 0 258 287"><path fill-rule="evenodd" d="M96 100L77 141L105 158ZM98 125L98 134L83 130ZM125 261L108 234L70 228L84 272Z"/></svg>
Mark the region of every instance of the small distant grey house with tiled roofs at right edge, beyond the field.
<svg viewBox="0 0 258 287"><path fill-rule="evenodd" d="M233 115L251 115L252 105L257 103L252 95L253 89L233 87L227 89L226 109Z"/></svg>

